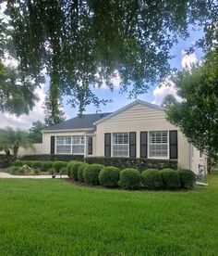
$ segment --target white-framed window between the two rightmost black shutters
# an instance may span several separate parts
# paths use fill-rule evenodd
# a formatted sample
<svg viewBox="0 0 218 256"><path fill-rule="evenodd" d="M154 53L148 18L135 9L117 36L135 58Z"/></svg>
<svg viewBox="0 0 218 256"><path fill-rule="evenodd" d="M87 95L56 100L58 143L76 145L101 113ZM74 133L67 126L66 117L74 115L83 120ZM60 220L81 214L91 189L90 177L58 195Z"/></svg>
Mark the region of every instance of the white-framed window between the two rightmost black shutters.
<svg viewBox="0 0 218 256"><path fill-rule="evenodd" d="M149 139L150 158L168 158L168 132L150 132Z"/></svg>

